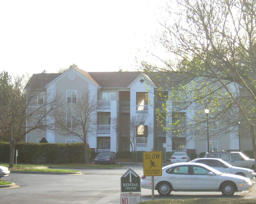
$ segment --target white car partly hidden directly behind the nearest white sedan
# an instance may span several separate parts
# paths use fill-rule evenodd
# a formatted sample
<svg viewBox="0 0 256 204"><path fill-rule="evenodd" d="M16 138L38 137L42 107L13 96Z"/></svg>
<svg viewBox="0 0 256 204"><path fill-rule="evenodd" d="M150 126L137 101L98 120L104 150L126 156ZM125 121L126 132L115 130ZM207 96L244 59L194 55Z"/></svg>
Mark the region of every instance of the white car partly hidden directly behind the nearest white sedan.
<svg viewBox="0 0 256 204"><path fill-rule="evenodd" d="M255 178L256 175L252 169L232 166L220 158L196 158L190 162L206 164L223 173L236 174L250 179Z"/></svg>

